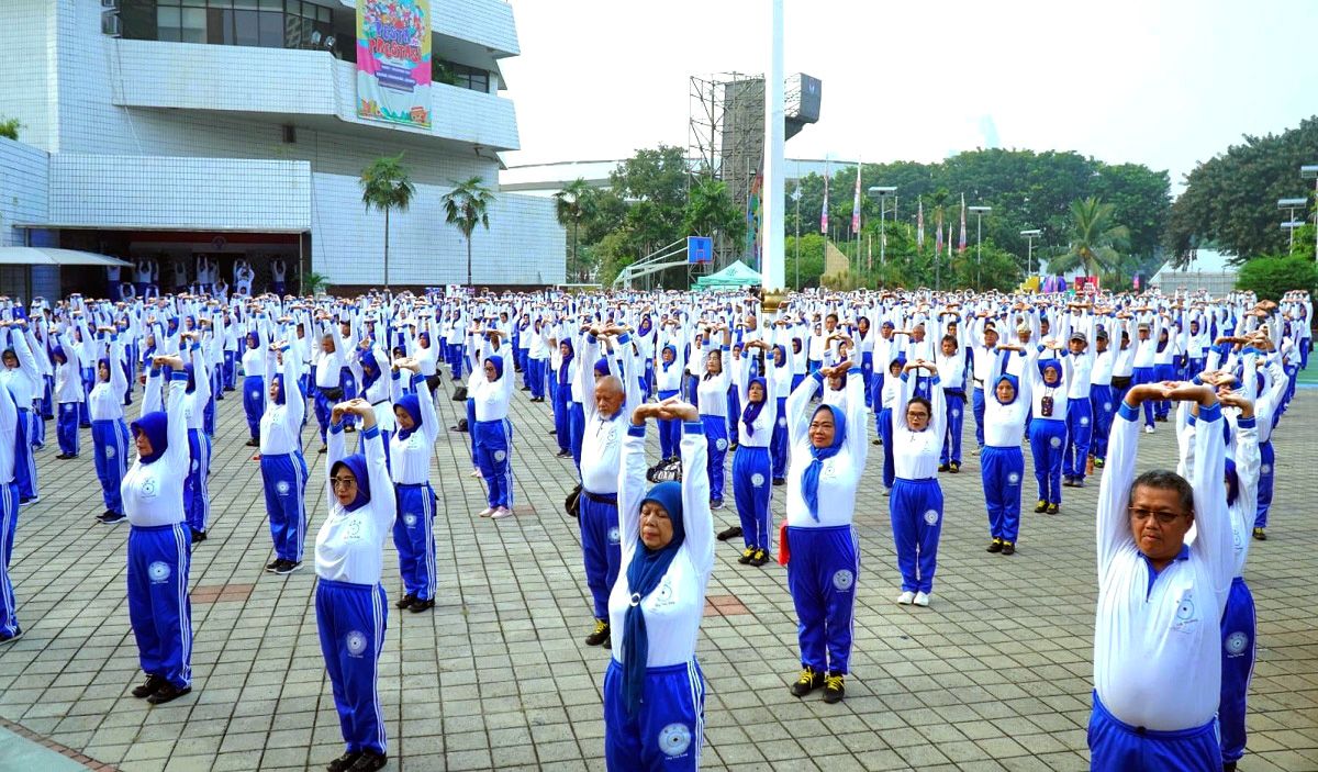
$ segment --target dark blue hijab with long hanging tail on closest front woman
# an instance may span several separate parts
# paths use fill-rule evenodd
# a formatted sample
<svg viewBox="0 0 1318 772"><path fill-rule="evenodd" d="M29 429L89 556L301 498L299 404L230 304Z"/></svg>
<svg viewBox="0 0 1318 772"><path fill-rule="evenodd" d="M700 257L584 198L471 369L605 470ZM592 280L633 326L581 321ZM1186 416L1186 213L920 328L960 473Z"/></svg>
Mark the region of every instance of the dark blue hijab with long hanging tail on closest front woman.
<svg viewBox="0 0 1318 772"><path fill-rule="evenodd" d="M659 549L650 549L637 535L637 551L627 565L627 592L643 601L659 586L677 548L687 539L685 523L681 519L681 483L660 482L650 489L641 503L655 502L668 512L672 523L672 539ZM637 514L639 518L639 512ZM641 602L627 606L622 620L622 701L629 714L635 714L641 705L641 693L646 684L646 663L650 659L650 635L646 631L646 615Z"/></svg>

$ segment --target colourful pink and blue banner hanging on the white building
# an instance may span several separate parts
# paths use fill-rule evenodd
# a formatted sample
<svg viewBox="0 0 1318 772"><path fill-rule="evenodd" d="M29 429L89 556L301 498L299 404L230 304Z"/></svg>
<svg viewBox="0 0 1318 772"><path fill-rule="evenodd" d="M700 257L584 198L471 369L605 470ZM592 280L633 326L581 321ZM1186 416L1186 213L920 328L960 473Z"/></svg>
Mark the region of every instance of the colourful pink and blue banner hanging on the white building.
<svg viewBox="0 0 1318 772"><path fill-rule="evenodd" d="M430 0L357 0L357 116L428 129Z"/></svg>

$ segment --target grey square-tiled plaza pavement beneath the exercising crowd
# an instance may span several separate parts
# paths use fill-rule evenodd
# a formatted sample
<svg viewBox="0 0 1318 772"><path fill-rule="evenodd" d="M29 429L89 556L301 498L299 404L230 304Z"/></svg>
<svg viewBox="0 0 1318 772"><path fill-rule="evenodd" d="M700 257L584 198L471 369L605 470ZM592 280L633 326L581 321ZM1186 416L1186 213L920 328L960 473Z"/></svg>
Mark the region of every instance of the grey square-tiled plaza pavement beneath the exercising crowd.
<svg viewBox="0 0 1318 772"><path fill-rule="evenodd" d="M445 427L455 407L443 402ZM13 552L26 635L0 648L0 771L322 769L343 752L312 603L324 456L308 427L308 563L289 577L268 574L273 553L241 402L229 394L219 408L210 539L192 556L194 692L159 707L128 694L142 680L125 599L128 526L92 519L104 506L88 432L78 460L57 461L49 424L43 498L24 507ZM515 518L474 515L485 505L468 474L467 435L444 432L436 447L440 593L430 613L390 607L380 682L387 769L604 768L609 653L581 643L590 614L580 538L563 512L571 460L554 457L547 404L518 393L513 411ZM971 448L971 422L966 439ZM650 443L656 457L654 431ZM1298 394L1275 444L1271 538L1255 544L1248 568L1259 610L1240 764L1248 772L1318 769L1318 390ZM800 665L786 570L738 565L739 544L720 544L699 646L709 681L702 767L1087 768L1098 480L1064 489L1057 516L1032 514L1027 495L1019 552L988 555L978 458L967 453L961 474L940 476L948 503L933 605L896 606L873 451L857 514L863 557L846 701L788 694ZM1141 469L1174 462L1170 424L1141 435ZM780 495L774 510L780 515ZM714 518L722 528L735 511ZM385 586L395 599L391 544Z"/></svg>

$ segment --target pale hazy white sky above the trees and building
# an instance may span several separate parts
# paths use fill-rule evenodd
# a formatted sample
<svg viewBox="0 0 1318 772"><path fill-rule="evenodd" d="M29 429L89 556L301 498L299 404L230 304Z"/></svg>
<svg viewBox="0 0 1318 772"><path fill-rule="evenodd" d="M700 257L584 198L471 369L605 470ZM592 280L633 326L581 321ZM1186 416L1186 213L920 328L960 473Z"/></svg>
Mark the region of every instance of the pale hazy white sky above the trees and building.
<svg viewBox="0 0 1318 772"><path fill-rule="evenodd" d="M767 0L513 0L511 165L685 146L688 78L767 69ZM1075 150L1181 177L1318 113L1318 1L786 0L786 69L824 82L788 158ZM1314 149L1318 162L1318 148ZM1300 180L1297 174L1297 194Z"/></svg>

